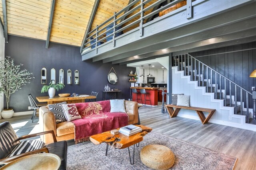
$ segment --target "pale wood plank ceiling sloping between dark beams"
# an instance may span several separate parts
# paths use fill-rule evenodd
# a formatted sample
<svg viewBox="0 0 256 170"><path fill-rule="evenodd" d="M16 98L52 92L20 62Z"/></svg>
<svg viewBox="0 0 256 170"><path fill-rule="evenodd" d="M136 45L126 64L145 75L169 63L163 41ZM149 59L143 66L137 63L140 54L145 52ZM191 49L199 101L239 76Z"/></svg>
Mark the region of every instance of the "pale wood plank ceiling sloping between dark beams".
<svg viewBox="0 0 256 170"><path fill-rule="evenodd" d="M152 0L150 4L155 1ZM50 42L80 47L92 15L94 2L95 0L56 0L50 29ZM113 16L114 12L127 6L129 2L131 1L100 0L96 14L92 18L90 30ZM6 0L8 34L46 41L51 4L52 0ZM2 0L0 7L0 17L3 21Z"/></svg>

